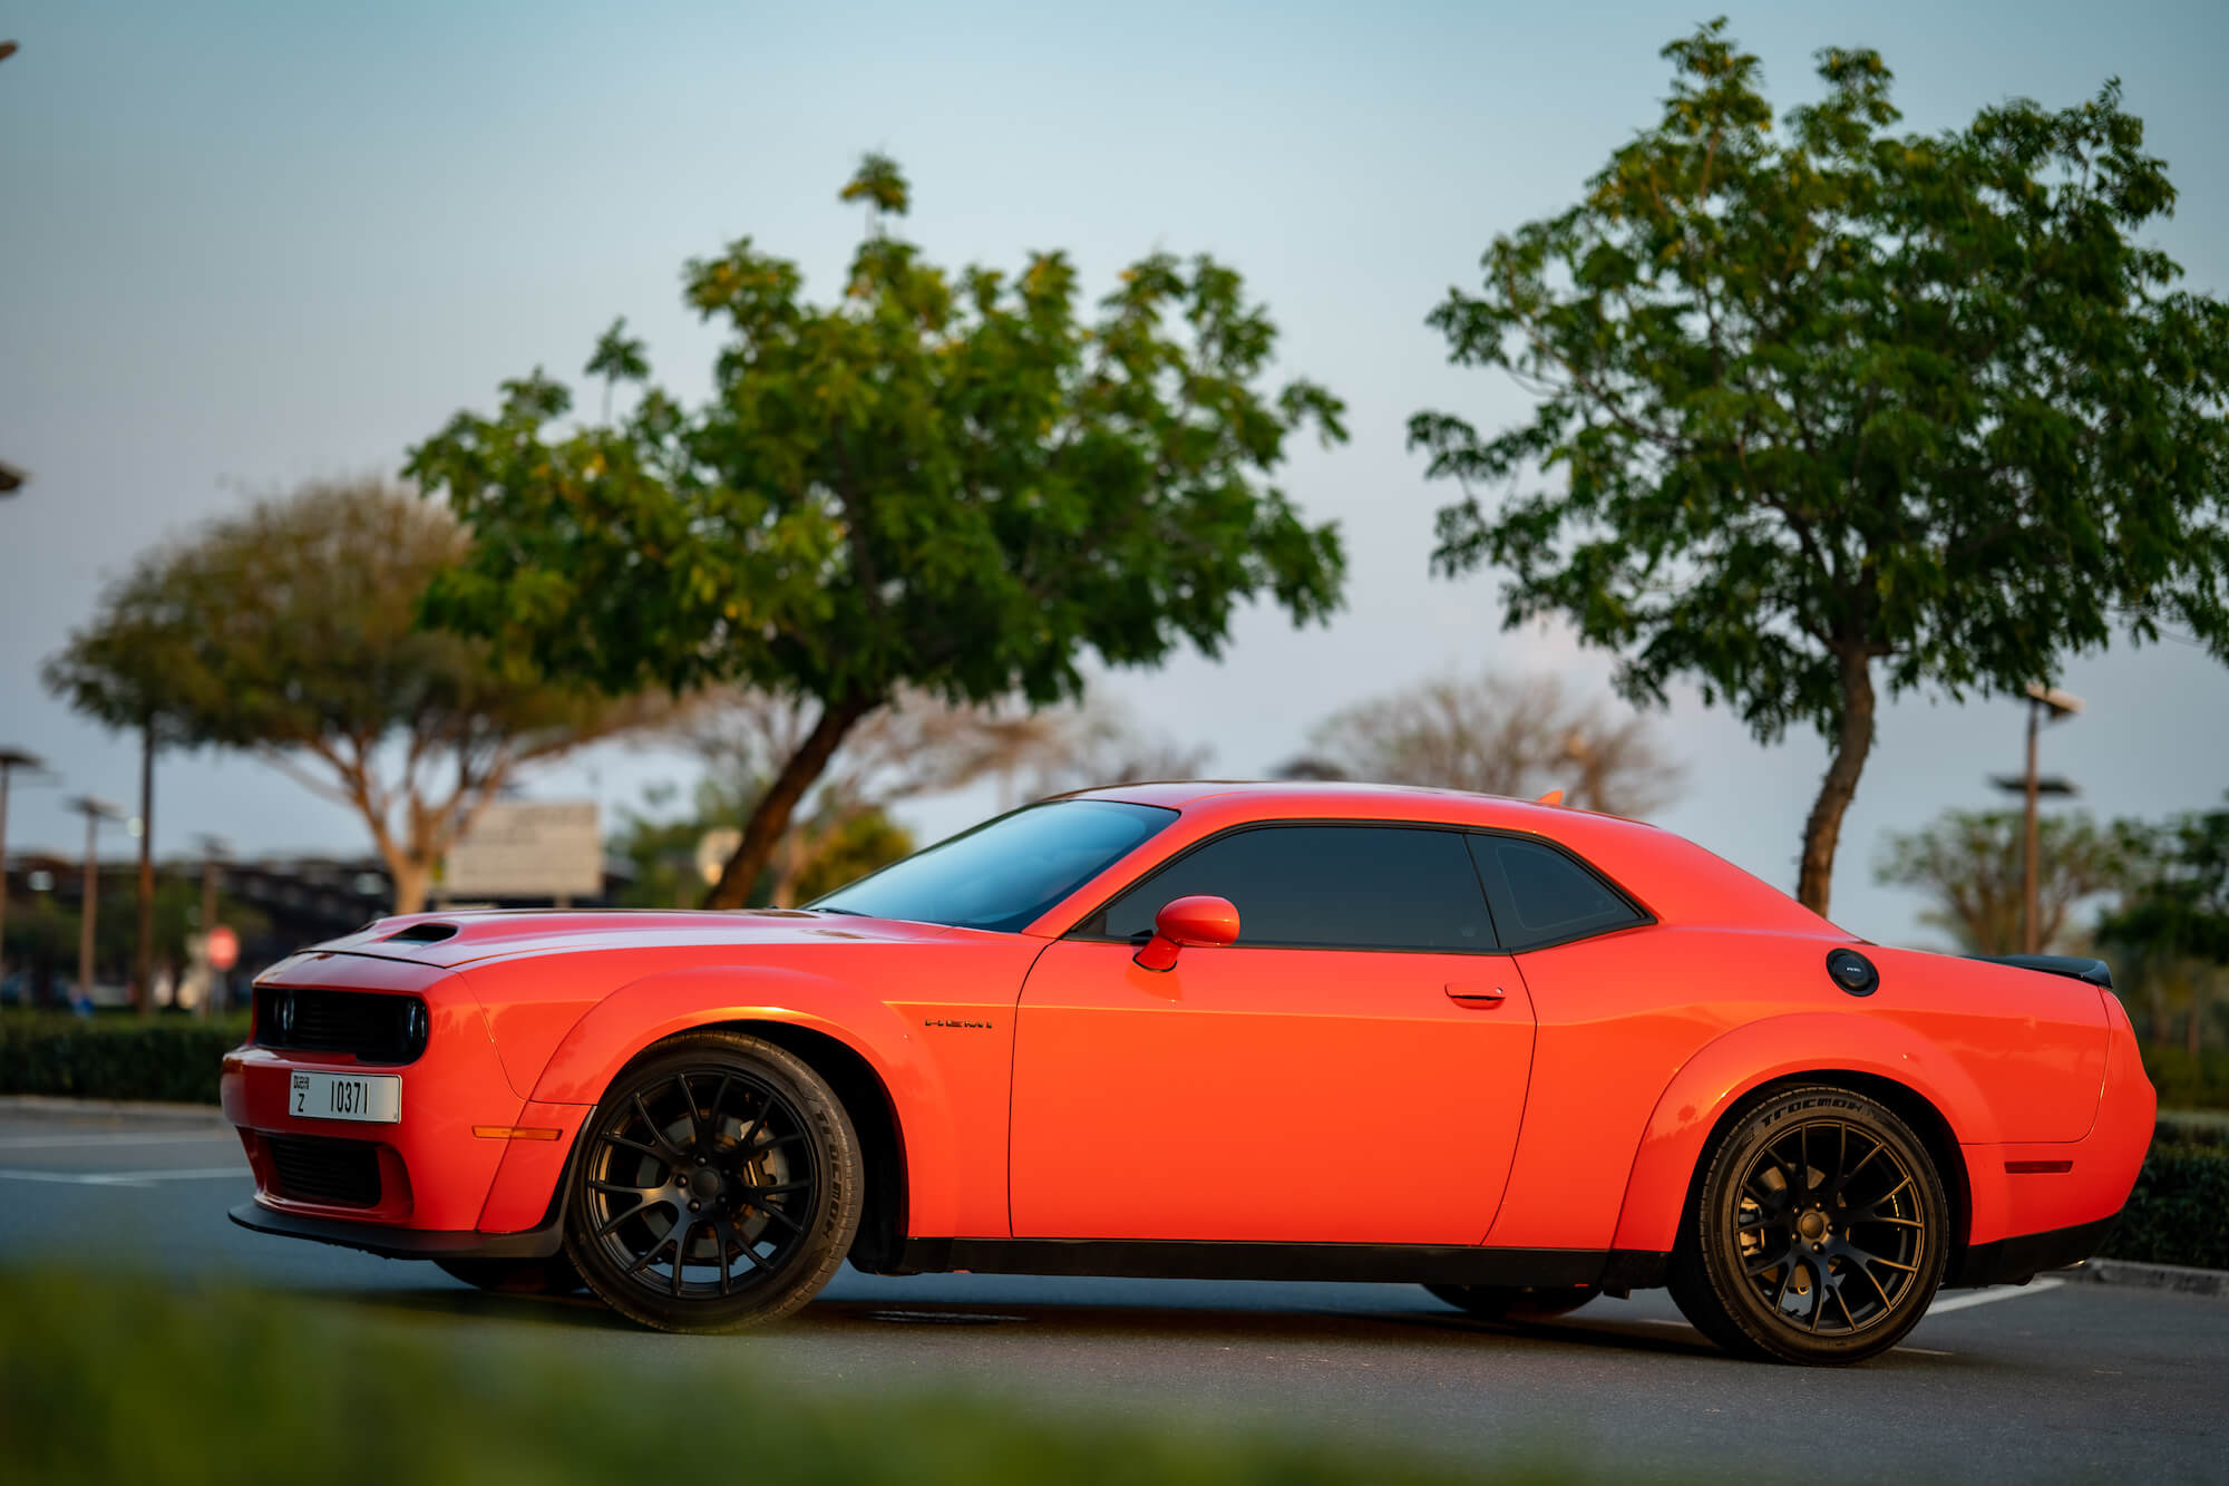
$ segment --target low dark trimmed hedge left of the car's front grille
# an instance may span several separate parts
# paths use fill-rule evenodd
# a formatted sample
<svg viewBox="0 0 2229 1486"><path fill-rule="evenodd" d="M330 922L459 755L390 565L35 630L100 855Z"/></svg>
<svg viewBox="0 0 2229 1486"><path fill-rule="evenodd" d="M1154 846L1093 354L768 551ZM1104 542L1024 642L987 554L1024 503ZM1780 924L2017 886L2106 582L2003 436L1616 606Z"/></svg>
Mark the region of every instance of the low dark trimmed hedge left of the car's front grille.
<svg viewBox="0 0 2229 1486"><path fill-rule="evenodd" d="M218 1067L245 1038L245 1017L9 1013L0 1093L214 1104Z"/></svg>

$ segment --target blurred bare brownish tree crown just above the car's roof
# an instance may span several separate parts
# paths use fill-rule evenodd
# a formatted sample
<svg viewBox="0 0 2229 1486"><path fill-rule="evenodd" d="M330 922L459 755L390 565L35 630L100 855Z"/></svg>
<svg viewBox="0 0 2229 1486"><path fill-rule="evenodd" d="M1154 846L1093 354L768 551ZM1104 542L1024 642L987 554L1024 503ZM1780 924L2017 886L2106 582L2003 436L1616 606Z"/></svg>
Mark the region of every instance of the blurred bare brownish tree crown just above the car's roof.
<svg viewBox="0 0 2229 1486"><path fill-rule="evenodd" d="M1311 736L1311 772L1531 799L1643 817L1681 770L1649 721L1574 698L1554 676L1442 676L1342 707Z"/></svg>

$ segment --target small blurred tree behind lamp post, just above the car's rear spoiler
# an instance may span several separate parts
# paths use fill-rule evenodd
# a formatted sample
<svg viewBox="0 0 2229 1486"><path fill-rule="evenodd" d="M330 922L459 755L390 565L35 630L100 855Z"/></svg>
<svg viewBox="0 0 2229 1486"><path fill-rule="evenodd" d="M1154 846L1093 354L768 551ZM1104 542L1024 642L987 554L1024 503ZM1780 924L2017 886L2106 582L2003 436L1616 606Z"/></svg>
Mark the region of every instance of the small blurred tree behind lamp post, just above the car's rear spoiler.
<svg viewBox="0 0 2229 1486"><path fill-rule="evenodd" d="M2129 857L2118 832L2086 814L2046 814L2035 823L2035 944L2075 948L2073 910L2124 884ZM2026 895L2026 817L2017 810L1948 810L1912 832L1890 832L1872 866L1875 881L1928 895L1919 915L1968 955L2017 955Z"/></svg>

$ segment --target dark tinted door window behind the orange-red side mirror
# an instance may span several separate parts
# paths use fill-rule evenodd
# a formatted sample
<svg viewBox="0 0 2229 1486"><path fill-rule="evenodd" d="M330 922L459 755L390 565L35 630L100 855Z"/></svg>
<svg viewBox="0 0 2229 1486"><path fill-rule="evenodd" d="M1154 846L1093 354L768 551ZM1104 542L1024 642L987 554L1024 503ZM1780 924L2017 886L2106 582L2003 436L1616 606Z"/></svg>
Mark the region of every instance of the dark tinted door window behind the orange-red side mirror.
<svg viewBox="0 0 2229 1486"><path fill-rule="evenodd" d="M1210 841L1108 906L1112 937L1152 933L1152 915L1193 892L1228 897L1239 944L1489 951L1478 872L1451 830L1271 826Z"/></svg>

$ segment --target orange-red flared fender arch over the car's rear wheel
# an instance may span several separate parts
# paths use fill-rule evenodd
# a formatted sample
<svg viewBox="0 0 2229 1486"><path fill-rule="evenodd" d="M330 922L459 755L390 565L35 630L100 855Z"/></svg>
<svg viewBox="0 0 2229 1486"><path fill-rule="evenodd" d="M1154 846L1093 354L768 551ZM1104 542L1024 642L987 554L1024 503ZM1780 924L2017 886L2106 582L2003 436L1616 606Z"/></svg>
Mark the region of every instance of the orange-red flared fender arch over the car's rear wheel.
<svg viewBox="0 0 2229 1486"><path fill-rule="evenodd" d="M1741 1098L1774 1080L1837 1071L1910 1089L1941 1113L1959 1147L1999 1140L1988 1100L1966 1069L1904 1026L1832 1011L1748 1022L1696 1051L1665 1084L1634 1151L1616 1247L1672 1249L1703 1142ZM1955 1178L1944 1171L1946 1183Z"/></svg>

